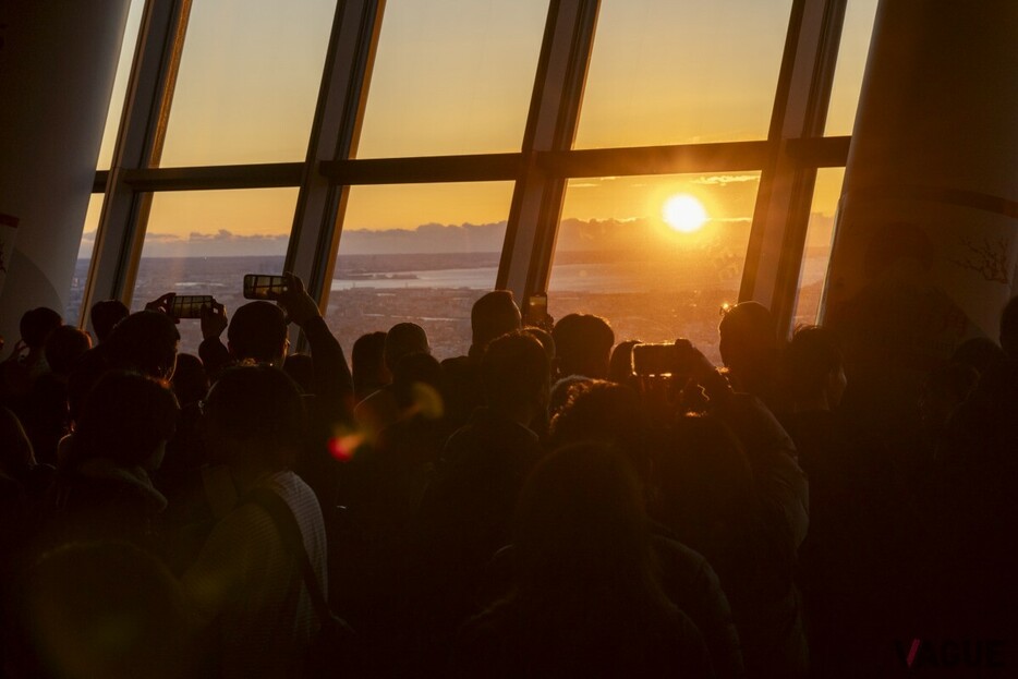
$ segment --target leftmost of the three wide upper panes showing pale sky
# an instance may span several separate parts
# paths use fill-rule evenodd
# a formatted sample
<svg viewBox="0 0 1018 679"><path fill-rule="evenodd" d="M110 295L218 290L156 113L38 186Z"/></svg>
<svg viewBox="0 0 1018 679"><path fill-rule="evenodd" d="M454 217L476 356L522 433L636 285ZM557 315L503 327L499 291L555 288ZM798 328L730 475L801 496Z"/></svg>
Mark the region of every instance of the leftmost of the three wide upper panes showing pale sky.
<svg viewBox="0 0 1018 679"><path fill-rule="evenodd" d="M336 0L195 0L162 167L303 160Z"/></svg>

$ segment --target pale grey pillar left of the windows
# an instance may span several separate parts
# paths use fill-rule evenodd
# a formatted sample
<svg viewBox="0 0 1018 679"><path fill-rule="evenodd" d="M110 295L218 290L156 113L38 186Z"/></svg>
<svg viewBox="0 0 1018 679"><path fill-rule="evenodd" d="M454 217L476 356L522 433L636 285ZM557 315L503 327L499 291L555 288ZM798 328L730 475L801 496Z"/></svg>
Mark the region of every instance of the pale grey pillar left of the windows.
<svg viewBox="0 0 1018 679"><path fill-rule="evenodd" d="M66 304L130 5L0 2L0 213L19 220L0 290L7 351L23 312Z"/></svg>

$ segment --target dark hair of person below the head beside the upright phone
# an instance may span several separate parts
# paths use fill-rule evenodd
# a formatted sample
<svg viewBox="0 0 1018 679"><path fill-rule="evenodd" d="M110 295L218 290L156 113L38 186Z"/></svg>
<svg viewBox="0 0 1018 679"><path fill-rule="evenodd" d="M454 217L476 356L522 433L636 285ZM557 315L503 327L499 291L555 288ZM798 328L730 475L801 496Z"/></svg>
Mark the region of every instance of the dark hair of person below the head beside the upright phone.
<svg viewBox="0 0 1018 679"><path fill-rule="evenodd" d="M549 379L541 342L522 331L494 340L481 357L481 390L488 407L497 410L533 402Z"/></svg>

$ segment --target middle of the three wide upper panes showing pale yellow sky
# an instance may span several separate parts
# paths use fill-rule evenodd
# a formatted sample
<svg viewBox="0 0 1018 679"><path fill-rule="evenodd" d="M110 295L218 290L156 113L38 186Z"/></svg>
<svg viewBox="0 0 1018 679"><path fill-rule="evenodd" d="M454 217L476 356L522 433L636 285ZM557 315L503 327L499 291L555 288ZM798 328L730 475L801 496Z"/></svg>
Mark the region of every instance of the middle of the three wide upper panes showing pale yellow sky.
<svg viewBox="0 0 1018 679"><path fill-rule="evenodd" d="M388 0L360 158L518 151L548 0Z"/></svg>

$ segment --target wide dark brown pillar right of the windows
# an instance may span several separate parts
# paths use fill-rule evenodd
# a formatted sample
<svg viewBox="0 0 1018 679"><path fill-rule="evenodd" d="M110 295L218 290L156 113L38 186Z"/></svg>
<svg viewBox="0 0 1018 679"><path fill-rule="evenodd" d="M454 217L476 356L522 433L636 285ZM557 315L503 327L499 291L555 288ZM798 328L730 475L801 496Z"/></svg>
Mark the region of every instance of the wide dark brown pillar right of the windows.
<svg viewBox="0 0 1018 679"><path fill-rule="evenodd" d="M1014 0L877 9L824 322L890 419L960 342L997 338L1015 290L1016 37Z"/></svg>

